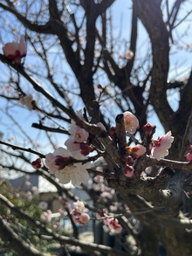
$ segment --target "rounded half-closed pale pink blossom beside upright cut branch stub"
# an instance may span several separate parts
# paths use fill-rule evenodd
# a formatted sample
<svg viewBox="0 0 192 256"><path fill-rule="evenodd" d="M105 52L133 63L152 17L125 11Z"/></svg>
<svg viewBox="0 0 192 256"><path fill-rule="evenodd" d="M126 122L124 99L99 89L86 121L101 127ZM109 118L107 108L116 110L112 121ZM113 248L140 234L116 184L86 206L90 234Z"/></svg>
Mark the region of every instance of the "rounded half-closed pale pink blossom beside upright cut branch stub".
<svg viewBox="0 0 192 256"><path fill-rule="evenodd" d="M124 115L124 124L126 131L129 134L134 134L136 129L139 127L139 121L134 114L129 111L123 113Z"/></svg>

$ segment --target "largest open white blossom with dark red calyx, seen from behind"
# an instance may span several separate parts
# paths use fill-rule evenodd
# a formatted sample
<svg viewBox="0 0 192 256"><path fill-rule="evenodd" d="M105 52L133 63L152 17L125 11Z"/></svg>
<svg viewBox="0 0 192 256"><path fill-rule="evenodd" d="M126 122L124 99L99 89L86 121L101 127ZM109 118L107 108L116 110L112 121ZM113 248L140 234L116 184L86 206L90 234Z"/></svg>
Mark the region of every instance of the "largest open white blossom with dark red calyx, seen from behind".
<svg viewBox="0 0 192 256"><path fill-rule="evenodd" d="M75 155L75 158L85 159L81 154ZM71 152L60 147L53 153L45 155L45 165L60 183L72 182L74 186L79 186L80 183L86 183L89 179L86 169L90 168L90 163L70 163L73 159Z"/></svg>

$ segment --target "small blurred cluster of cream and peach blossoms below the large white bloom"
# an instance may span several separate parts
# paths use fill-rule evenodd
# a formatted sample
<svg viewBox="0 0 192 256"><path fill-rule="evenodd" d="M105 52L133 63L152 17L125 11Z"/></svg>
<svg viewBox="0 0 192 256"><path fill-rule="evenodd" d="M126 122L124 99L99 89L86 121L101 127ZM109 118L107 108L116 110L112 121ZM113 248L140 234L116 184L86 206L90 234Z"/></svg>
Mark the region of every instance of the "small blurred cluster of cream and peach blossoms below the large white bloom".
<svg viewBox="0 0 192 256"><path fill-rule="evenodd" d="M83 202L77 201L73 203L74 209L72 209L71 214L75 223L79 225L85 225L89 220L89 215L85 212L86 208Z"/></svg>

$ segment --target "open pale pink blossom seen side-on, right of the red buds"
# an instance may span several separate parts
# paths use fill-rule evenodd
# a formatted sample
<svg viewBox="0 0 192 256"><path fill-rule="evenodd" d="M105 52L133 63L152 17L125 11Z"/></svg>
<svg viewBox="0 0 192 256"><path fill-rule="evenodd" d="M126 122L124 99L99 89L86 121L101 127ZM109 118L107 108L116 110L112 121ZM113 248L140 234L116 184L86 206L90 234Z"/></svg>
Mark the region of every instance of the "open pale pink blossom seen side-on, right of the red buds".
<svg viewBox="0 0 192 256"><path fill-rule="evenodd" d="M173 141L174 137L171 135L171 131L168 131L166 135L154 140L150 157L160 160L161 157L168 156L168 149L170 149Z"/></svg>

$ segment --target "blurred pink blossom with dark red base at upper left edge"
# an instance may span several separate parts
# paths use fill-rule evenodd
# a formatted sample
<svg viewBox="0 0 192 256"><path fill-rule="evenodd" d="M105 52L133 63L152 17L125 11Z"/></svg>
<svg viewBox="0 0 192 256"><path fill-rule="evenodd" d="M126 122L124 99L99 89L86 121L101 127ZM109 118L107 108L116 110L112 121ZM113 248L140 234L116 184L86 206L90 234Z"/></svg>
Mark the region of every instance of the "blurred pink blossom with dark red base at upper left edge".
<svg viewBox="0 0 192 256"><path fill-rule="evenodd" d="M24 41L24 36L20 38L20 42L11 42L3 46L3 54L7 59L15 62L17 65L21 64L21 59L26 56L27 46Z"/></svg>

